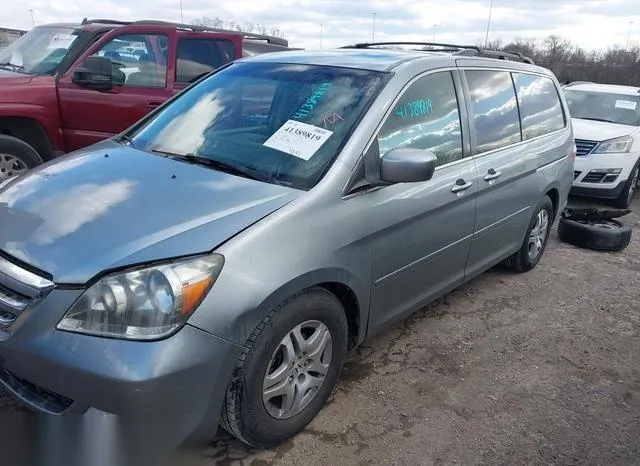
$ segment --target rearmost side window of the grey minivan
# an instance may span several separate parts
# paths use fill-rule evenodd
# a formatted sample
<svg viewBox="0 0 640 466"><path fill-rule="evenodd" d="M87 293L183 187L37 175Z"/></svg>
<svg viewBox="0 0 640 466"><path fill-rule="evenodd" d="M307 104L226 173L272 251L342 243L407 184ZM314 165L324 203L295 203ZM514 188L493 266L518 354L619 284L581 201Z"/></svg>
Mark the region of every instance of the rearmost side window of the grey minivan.
<svg viewBox="0 0 640 466"><path fill-rule="evenodd" d="M532 139L564 128L564 111L553 81L534 74L512 74L520 106L523 139Z"/></svg>

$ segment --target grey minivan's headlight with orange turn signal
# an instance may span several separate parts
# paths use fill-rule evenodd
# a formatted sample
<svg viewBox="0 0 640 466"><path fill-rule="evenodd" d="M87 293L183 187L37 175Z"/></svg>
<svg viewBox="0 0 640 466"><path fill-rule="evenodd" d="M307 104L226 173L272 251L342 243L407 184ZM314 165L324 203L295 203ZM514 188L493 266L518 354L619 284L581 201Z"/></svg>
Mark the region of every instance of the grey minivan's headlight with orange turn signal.
<svg viewBox="0 0 640 466"><path fill-rule="evenodd" d="M59 330L153 340L182 327L218 278L219 254L108 275L93 284L58 323Z"/></svg>

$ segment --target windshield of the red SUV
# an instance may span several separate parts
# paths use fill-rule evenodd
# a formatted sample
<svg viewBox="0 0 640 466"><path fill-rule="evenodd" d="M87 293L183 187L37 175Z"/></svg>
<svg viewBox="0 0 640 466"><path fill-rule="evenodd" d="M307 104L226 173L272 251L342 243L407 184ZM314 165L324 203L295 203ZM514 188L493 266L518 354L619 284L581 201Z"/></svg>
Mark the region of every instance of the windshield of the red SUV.
<svg viewBox="0 0 640 466"><path fill-rule="evenodd" d="M38 26L0 51L0 67L27 74L54 74L78 39L69 27Z"/></svg>

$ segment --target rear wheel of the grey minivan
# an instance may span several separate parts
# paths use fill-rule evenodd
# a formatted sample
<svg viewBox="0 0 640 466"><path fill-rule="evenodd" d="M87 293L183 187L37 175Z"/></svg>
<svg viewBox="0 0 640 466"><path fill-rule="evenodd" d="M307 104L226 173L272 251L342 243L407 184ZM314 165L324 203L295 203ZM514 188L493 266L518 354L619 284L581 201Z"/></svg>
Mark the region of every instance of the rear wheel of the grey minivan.
<svg viewBox="0 0 640 466"><path fill-rule="evenodd" d="M528 272L538 265L549 240L553 212L553 203L549 196L545 196L533 214L522 246L518 252L504 261L504 265L508 269L516 272Z"/></svg>

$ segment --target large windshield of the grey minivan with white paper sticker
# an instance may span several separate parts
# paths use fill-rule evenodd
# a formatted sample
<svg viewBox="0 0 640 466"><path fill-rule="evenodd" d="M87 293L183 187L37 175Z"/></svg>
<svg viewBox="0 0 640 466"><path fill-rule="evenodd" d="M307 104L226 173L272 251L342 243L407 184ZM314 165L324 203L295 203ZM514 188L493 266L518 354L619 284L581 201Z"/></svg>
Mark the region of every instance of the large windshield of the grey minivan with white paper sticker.
<svg viewBox="0 0 640 466"><path fill-rule="evenodd" d="M308 190L331 165L388 74L236 62L191 88L134 134L136 149ZM188 156L188 157L185 157ZM217 163L202 163L206 159Z"/></svg>

